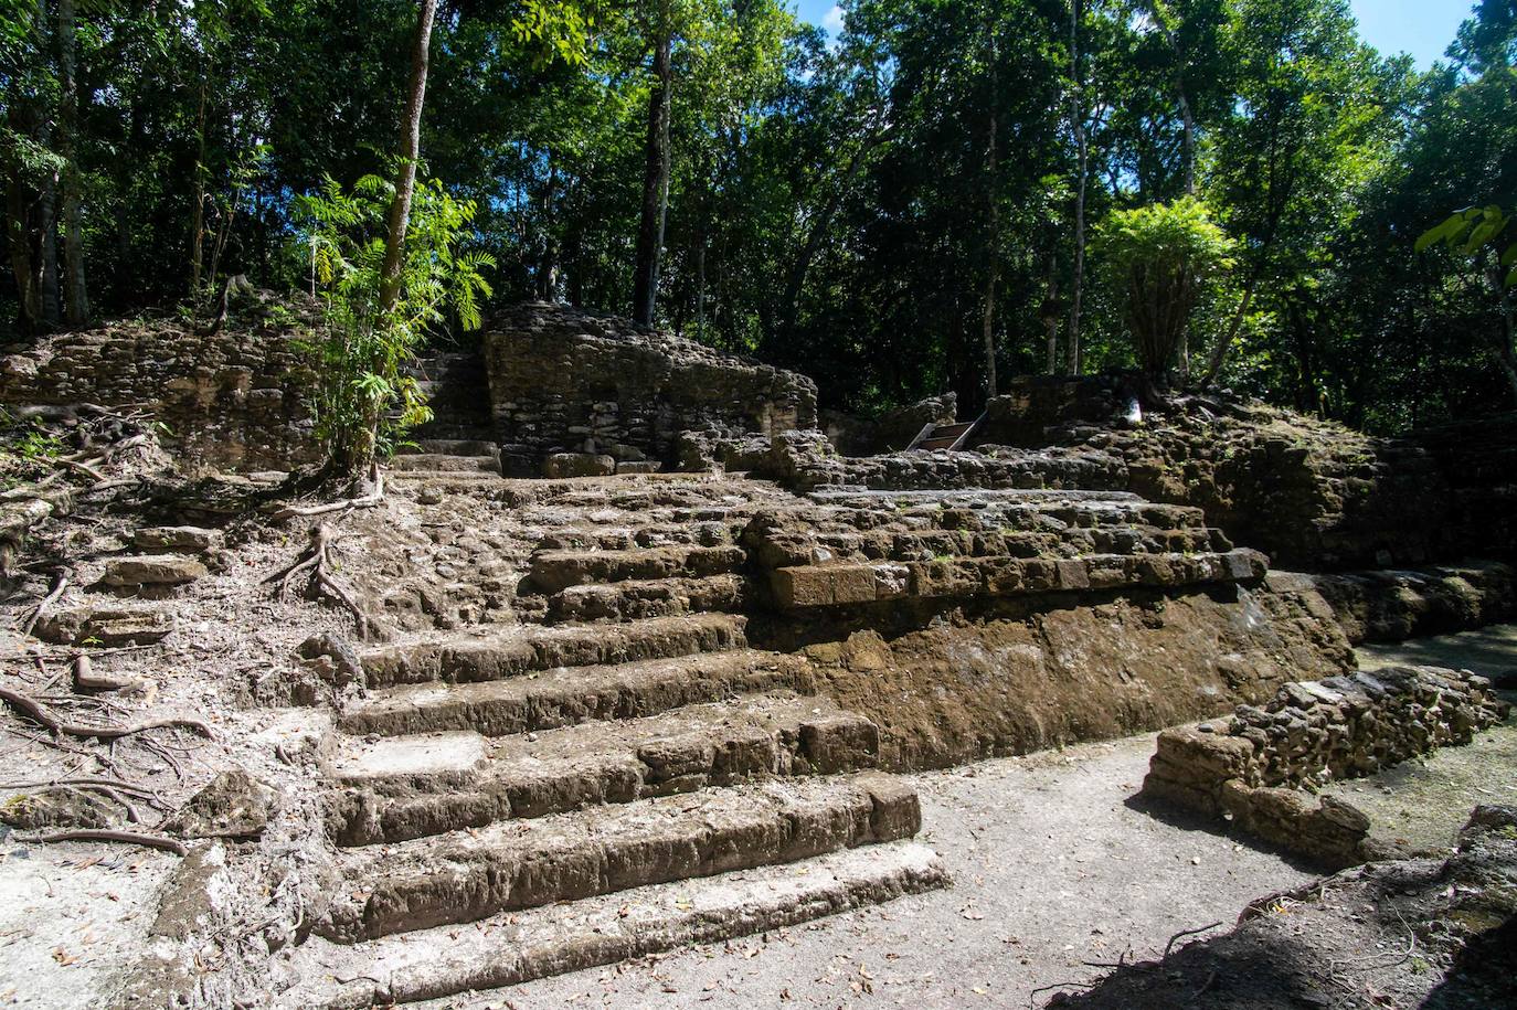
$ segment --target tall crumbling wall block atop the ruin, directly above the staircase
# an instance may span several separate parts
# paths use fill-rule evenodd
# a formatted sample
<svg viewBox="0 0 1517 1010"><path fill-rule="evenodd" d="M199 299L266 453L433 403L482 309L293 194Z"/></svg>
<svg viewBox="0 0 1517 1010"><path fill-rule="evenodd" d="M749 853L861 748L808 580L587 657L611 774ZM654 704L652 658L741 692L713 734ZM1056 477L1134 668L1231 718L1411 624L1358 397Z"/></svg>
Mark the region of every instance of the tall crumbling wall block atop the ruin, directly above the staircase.
<svg viewBox="0 0 1517 1010"><path fill-rule="evenodd" d="M806 376L563 305L499 315L484 356L507 453L672 464L684 431L816 426L816 385Z"/></svg>

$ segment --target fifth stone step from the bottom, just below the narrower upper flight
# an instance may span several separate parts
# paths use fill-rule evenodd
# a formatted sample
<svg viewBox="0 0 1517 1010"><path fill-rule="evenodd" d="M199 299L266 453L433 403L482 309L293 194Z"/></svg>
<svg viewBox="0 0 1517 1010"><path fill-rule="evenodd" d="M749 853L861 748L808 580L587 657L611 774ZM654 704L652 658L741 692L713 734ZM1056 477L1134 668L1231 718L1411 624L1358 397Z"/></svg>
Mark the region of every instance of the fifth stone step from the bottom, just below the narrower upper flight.
<svg viewBox="0 0 1517 1010"><path fill-rule="evenodd" d="M384 646L363 658L369 687L495 681L560 666L610 666L745 648L736 614L654 617L622 625L520 626Z"/></svg>

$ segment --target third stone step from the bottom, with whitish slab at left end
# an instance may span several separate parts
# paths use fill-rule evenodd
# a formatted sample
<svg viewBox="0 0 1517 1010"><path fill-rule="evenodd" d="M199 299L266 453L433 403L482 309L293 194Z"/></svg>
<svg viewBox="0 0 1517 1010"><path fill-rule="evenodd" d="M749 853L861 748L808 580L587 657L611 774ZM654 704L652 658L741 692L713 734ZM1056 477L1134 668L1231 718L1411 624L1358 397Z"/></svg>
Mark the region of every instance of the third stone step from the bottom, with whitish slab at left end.
<svg viewBox="0 0 1517 1010"><path fill-rule="evenodd" d="M513 737L343 737L332 748L328 833L356 846L752 778L859 772L878 763L880 731L822 698L749 695Z"/></svg>

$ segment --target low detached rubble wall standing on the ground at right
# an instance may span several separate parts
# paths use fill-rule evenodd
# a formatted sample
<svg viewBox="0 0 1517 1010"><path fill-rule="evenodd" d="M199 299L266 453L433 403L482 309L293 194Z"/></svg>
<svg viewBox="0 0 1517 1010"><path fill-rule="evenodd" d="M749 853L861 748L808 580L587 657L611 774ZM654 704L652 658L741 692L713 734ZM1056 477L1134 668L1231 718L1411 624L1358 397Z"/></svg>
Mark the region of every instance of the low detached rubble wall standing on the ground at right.
<svg viewBox="0 0 1517 1010"><path fill-rule="evenodd" d="M1431 666L1286 684L1267 705L1161 732L1142 792L1347 866L1370 855L1368 817L1306 790L1468 743L1508 708L1485 678Z"/></svg>

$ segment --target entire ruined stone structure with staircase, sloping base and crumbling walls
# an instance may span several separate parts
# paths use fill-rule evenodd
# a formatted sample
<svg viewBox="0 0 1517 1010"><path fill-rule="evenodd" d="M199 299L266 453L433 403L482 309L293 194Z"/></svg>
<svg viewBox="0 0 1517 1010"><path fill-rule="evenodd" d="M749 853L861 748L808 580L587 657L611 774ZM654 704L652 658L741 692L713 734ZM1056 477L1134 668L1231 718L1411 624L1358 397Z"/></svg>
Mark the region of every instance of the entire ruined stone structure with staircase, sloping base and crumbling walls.
<svg viewBox="0 0 1517 1010"><path fill-rule="evenodd" d="M228 438L267 428L270 455L218 458L272 460L287 429L232 379L296 381L287 344L256 367L193 344L200 375L202 338L176 332L155 337L179 349L164 381L188 369L200 394L153 409ZM11 367L9 388L71 375L85 337ZM343 517L340 578L373 640L326 629L237 687L293 707L281 732L303 743L281 760L317 839L278 1005L440 998L942 887L898 772L1224 713L1165 734L1150 792L1343 857L1358 820L1296 787L1496 713L1447 672L1356 679L1350 637L1506 613L1505 563L1452 564L1509 547L1487 513L1511 475L1450 463L1467 444L1505 458L1503 429L1379 443L1262 408L1097 429L1083 414L1120 411L1121 382L1039 381L992 403L969 450L848 456L799 376L543 305L498 320L482 361L416 370L437 417L384 500ZM137 388L70 382L115 403ZM945 420L924 403L850 438ZM675 466L692 472L658 472ZM181 491L155 523L238 511ZM1434 493L1449 523L1427 522ZM141 531L39 634L173 641L177 605L244 547L237 523ZM1423 570L1355 570L1387 558ZM188 861L168 902L218 872ZM162 986L149 961L137 992Z"/></svg>

